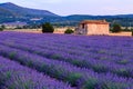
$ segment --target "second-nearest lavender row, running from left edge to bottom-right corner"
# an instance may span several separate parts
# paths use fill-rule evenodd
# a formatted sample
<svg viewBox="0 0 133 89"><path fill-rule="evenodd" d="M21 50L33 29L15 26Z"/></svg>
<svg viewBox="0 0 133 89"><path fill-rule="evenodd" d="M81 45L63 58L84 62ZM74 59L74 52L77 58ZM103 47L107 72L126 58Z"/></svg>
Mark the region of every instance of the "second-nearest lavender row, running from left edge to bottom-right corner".
<svg viewBox="0 0 133 89"><path fill-rule="evenodd" d="M33 55L2 44L0 46L0 51L1 51L0 55L4 57L19 61L24 66L37 69L38 71L50 75L51 77L54 77L57 79L69 81L71 82L71 85L76 85L80 88L130 89L133 87L132 78L124 79L112 73L105 75L95 73L93 70L76 68L63 61L50 60L47 58L42 58L38 55Z"/></svg>

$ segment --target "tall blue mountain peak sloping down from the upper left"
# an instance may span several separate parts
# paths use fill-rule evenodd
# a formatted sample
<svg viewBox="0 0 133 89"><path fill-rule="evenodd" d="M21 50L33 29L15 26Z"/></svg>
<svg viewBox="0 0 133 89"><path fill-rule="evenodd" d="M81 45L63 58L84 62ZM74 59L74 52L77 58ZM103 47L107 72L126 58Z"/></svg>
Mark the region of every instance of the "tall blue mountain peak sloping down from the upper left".
<svg viewBox="0 0 133 89"><path fill-rule="evenodd" d="M48 10L38 10L19 7L14 3L7 2L0 4L0 16L7 17L59 17Z"/></svg>

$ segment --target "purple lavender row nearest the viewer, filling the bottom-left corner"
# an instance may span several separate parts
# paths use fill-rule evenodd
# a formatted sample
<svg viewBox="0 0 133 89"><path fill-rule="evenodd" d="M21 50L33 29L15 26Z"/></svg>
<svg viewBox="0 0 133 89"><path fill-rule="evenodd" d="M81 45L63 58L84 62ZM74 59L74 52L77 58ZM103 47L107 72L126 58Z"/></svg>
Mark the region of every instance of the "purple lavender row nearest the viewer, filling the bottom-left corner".
<svg viewBox="0 0 133 89"><path fill-rule="evenodd" d="M0 89L72 89L48 76L0 57Z"/></svg>

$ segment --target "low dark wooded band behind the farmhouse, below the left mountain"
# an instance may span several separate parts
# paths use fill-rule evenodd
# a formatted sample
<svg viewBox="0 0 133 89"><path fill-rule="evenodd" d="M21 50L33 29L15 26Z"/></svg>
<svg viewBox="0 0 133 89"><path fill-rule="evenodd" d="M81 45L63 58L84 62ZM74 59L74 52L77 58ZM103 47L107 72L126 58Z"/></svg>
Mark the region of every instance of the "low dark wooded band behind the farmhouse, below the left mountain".
<svg viewBox="0 0 133 89"><path fill-rule="evenodd" d="M29 26L40 26L44 22L51 22L55 27L76 27L82 20L101 20L105 19L110 22L111 27L114 23L119 23L122 27L133 27L133 14L125 16L69 16L69 17L43 17L41 20L33 21L31 20L35 17L24 17L24 18L16 18L16 17L0 17L0 23L4 22L27 22Z"/></svg>

